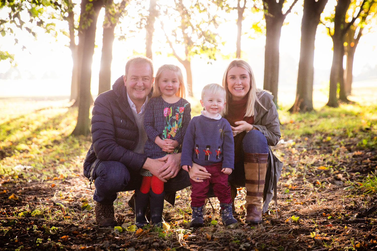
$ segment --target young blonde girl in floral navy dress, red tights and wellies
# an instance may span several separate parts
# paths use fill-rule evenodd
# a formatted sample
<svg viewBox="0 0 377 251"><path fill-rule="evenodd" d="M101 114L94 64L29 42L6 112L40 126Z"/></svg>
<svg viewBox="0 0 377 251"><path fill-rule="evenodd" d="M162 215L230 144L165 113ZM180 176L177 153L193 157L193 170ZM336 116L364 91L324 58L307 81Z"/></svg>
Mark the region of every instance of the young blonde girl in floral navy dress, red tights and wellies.
<svg viewBox="0 0 377 251"><path fill-rule="evenodd" d="M181 69L175 65L162 65L155 79L152 98L149 100L144 129L148 140L144 153L149 158L161 158L178 152L191 119L190 103L184 99L186 88ZM148 202L152 224L161 227L164 208L164 183L148 170L141 169L143 181L135 190L135 225L142 228L148 221L145 217Z"/></svg>

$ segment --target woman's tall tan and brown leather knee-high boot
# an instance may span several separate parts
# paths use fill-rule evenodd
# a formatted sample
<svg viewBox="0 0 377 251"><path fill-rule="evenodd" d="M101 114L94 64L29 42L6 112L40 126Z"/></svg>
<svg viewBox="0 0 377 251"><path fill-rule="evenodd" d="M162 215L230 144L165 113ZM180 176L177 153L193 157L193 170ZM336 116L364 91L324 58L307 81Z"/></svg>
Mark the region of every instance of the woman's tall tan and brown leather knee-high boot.
<svg viewBox="0 0 377 251"><path fill-rule="evenodd" d="M245 153L245 223L262 223L262 195L267 172L268 154Z"/></svg>

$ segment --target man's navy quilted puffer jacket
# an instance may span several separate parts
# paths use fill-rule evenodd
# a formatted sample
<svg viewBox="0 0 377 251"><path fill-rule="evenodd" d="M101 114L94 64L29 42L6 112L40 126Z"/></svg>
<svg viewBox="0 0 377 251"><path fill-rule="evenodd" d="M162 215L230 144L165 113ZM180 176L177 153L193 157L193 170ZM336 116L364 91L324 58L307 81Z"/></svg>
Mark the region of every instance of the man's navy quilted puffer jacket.
<svg viewBox="0 0 377 251"><path fill-rule="evenodd" d="M89 178L90 166L94 163L92 168L97 169L100 160L119 161L130 172L139 172L147 157L132 151L138 144L139 131L127 101L123 76L115 81L112 90L95 99L92 114L92 145L84 160L84 175Z"/></svg>

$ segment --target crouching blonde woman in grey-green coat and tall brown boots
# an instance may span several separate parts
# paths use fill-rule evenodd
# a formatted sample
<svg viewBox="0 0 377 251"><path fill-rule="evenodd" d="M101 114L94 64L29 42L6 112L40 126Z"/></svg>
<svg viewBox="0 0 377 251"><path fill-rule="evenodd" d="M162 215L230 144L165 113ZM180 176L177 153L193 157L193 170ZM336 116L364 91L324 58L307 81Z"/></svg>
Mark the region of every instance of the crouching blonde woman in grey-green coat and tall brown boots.
<svg viewBox="0 0 377 251"><path fill-rule="evenodd" d="M273 96L268 91L257 90L253 71L244 60L235 59L228 65L222 85L227 91L223 116L232 126L234 137L234 171L229 182L234 197L236 186L247 190L245 223L259 224L273 190L276 205L276 183L283 163L272 154L270 146L275 146L280 139L279 117ZM199 165L193 165L189 174L197 182L209 177L207 170Z"/></svg>

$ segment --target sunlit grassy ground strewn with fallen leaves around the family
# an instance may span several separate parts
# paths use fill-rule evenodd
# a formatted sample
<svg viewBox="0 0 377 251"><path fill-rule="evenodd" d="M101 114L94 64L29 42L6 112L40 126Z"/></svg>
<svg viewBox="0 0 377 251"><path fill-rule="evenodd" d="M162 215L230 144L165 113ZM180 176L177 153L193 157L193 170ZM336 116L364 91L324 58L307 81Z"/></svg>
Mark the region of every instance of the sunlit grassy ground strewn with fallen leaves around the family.
<svg viewBox="0 0 377 251"><path fill-rule="evenodd" d="M189 101L192 116L200 114L198 100ZM170 229L136 231L127 205L132 192L121 192L115 211L125 230L119 233L95 225L93 191L81 174L90 138L70 136L77 110L49 101L47 108L22 113L22 101L8 102L20 112L0 114L0 245L5 250L106 249L105 240L112 250L351 250L377 240L375 106L342 104L307 114L278 110L282 138L274 152L284 161L279 219L271 202L263 225L243 225L245 190L240 188L239 227L222 227L216 210L204 228L192 230L190 189L184 189L174 207L165 204ZM217 209L218 200L211 201ZM207 211L209 216L209 206Z"/></svg>

